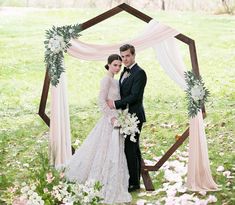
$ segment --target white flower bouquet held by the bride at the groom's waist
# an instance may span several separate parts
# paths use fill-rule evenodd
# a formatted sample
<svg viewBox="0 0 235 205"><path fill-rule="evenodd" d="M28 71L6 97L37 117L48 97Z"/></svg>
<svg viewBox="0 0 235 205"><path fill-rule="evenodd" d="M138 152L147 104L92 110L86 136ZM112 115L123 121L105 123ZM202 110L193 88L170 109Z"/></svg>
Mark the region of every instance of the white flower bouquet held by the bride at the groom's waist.
<svg viewBox="0 0 235 205"><path fill-rule="evenodd" d="M136 114L130 114L128 109L118 110L117 121L115 122L115 127L120 127L120 133L126 138L130 135L130 140L136 142L135 134L140 133L138 129L139 124L138 117Z"/></svg>

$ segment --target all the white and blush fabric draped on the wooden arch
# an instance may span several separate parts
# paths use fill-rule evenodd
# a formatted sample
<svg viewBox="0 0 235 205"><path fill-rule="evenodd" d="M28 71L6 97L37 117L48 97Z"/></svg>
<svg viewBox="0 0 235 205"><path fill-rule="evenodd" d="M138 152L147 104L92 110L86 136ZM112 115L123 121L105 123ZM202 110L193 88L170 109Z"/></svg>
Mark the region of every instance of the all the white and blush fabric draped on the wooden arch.
<svg viewBox="0 0 235 205"><path fill-rule="evenodd" d="M178 34L179 32L175 29L152 20L136 38L125 40L120 44L96 45L72 39L70 41L72 46L68 49L68 54L83 60L106 60L110 54L119 53L119 47L125 43L134 45L137 52L152 47L166 74L185 90L184 71L186 71L186 67L174 38ZM64 99L67 93L66 85L63 82L65 74L63 76L59 86L52 89L50 150L54 151L50 156L55 166L66 164L71 157L68 153L69 146L71 146L69 112L67 100ZM190 119L187 187L194 191L217 190L217 184L211 175L201 112L195 118Z"/></svg>

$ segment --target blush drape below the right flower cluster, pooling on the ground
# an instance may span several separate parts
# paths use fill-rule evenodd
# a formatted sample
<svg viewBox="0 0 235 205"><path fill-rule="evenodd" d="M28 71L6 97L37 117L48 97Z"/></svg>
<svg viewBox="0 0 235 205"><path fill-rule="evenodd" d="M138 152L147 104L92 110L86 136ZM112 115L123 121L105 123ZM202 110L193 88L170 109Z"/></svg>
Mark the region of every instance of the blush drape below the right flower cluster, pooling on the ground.
<svg viewBox="0 0 235 205"><path fill-rule="evenodd" d="M187 187L192 191L213 191L218 186L211 176L202 112L190 119Z"/></svg>

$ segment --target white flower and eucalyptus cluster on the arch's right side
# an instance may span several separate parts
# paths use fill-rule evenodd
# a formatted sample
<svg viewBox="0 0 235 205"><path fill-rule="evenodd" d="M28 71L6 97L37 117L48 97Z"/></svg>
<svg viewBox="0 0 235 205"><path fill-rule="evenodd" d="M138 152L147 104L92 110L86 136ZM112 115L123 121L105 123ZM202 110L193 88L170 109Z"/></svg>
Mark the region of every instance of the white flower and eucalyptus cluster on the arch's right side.
<svg viewBox="0 0 235 205"><path fill-rule="evenodd" d="M188 100L188 116L195 117L201 110L210 92L204 86L201 76L197 77L192 71L185 72L187 83L186 97Z"/></svg>

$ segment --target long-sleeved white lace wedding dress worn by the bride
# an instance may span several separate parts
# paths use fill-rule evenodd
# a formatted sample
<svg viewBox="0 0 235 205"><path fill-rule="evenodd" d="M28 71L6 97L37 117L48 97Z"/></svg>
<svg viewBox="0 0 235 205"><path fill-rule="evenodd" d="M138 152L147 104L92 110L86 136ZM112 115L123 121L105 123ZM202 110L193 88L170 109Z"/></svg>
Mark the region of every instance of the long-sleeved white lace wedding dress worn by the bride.
<svg viewBox="0 0 235 205"><path fill-rule="evenodd" d="M129 173L124 154L124 138L113 129L111 118L117 115L106 103L120 99L118 81L106 76L101 81L99 106L103 113L81 147L67 165L65 176L70 181L100 181L104 203L131 201L128 193Z"/></svg>

